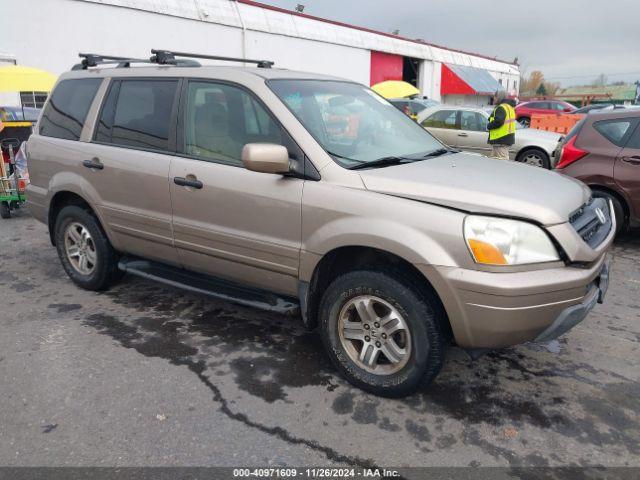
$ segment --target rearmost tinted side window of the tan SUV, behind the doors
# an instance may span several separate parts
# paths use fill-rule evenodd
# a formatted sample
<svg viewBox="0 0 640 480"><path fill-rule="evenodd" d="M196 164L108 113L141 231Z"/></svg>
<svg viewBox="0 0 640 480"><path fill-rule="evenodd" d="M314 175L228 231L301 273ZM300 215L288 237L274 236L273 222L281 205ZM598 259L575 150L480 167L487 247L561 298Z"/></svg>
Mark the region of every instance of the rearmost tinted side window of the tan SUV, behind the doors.
<svg viewBox="0 0 640 480"><path fill-rule="evenodd" d="M55 88L40 120L40 135L79 140L101 78L63 80Z"/></svg>

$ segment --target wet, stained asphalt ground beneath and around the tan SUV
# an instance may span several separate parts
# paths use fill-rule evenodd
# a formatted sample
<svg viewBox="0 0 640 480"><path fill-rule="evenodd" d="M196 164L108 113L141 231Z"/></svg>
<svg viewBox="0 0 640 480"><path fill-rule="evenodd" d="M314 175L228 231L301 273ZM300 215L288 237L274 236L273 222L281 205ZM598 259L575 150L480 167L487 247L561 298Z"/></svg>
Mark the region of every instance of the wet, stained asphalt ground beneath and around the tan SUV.
<svg viewBox="0 0 640 480"><path fill-rule="evenodd" d="M640 466L640 232L604 305L548 345L457 348L402 400L352 388L284 317L127 276L75 287L0 221L0 465Z"/></svg>

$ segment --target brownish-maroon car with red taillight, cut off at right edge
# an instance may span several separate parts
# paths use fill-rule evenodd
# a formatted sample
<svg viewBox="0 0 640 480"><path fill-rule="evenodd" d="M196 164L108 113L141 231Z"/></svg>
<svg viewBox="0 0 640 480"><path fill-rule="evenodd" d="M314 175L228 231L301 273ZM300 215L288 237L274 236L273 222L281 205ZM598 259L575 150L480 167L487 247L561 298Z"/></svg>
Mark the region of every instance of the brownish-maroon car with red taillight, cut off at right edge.
<svg viewBox="0 0 640 480"><path fill-rule="evenodd" d="M556 171L611 201L618 231L640 224L640 110L586 115L556 150Z"/></svg>

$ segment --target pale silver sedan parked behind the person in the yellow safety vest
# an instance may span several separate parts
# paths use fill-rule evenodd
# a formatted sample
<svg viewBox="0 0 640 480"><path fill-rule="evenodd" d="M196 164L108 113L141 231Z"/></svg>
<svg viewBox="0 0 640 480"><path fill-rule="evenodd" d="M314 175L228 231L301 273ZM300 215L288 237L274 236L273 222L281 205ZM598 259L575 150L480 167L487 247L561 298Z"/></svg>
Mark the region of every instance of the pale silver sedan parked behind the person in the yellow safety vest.
<svg viewBox="0 0 640 480"><path fill-rule="evenodd" d="M450 147L488 155L487 143L489 113L482 108L439 105L418 114L418 123L429 133ZM553 168L556 160L553 152L562 135L524 128L518 124L516 143L510 149L510 157L518 162L537 167Z"/></svg>

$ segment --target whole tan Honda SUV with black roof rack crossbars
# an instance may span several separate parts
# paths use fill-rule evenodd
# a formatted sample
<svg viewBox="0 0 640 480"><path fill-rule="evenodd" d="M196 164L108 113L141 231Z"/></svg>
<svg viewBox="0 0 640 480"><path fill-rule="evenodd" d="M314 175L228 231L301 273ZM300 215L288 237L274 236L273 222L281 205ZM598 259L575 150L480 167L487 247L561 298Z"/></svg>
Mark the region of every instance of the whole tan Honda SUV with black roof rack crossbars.
<svg viewBox="0 0 640 480"><path fill-rule="evenodd" d="M546 342L603 301L615 218L581 182L447 148L352 81L153 53L84 55L28 141L79 287L129 272L299 315L385 396L451 344Z"/></svg>

